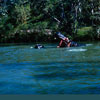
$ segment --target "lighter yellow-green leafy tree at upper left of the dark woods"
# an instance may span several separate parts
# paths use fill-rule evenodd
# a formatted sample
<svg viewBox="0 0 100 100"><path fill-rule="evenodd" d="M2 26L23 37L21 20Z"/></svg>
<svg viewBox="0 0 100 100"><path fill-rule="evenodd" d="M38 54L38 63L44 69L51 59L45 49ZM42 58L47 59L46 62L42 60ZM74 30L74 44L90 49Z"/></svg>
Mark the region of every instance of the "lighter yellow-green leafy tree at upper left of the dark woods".
<svg viewBox="0 0 100 100"><path fill-rule="evenodd" d="M30 2L23 2L23 0L19 0L18 3L15 4L14 13L16 15L16 23L20 28L28 28L28 21L30 19Z"/></svg>

